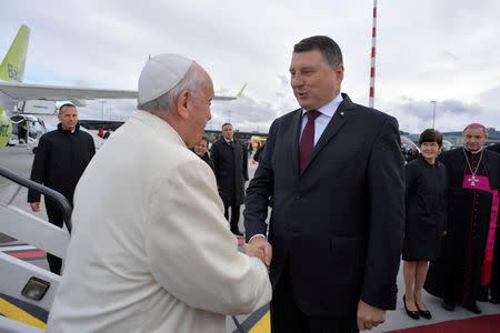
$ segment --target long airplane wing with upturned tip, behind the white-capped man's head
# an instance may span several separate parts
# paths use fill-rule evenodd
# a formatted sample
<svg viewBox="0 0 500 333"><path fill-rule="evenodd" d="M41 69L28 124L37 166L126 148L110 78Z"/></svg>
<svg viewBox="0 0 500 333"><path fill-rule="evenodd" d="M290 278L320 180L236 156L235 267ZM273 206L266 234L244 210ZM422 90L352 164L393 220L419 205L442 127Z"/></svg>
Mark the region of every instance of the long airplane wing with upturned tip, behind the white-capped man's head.
<svg viewBox="0 0 500 333"><path fill-rule="evenodd" d="M237 100L244 87L236 97L216 95L213 100ZM0 91L14 100L76 101L94 99L137 99L137 90L114 90L97 88L78 88L63 85L28 84L21 82L0 81Z"/></svg>

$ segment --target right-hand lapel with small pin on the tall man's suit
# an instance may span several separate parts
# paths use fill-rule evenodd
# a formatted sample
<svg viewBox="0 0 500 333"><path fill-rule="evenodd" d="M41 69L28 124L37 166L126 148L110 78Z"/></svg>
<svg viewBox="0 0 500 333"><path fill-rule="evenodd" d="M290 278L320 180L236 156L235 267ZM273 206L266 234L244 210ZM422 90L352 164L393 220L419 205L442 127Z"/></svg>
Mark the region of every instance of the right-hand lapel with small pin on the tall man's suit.
<svg viewBox="0 0 500 333"><path fill-rule="evenodd" d="M349 99L349 97L342 93L342 98L343 101L340 103L339 108L337 108L336 113L333 113L333 117L330 119L330 122L328 123L320 139L314 144L314 148L312 149L311 155L309 157L309 160L306 163L302 173L306 172L309 164L311 164L311 162L314 160L318 153L339 132L339 130L343 127L349 117L354 112L354 104Z"/></svg>

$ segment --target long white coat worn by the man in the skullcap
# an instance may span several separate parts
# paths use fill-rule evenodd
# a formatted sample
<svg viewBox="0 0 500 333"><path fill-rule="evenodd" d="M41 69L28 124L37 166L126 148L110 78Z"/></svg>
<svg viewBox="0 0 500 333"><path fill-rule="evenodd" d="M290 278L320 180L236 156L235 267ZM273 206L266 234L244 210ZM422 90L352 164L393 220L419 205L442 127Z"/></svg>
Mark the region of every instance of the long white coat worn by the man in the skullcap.
<svg viewBox="0 0 500 333"><path fill-rule="evenodd" d="M212 170L162 119L137 112L74 193L73 233L48 332L226 332L271 299L238 252Z"/></svg>

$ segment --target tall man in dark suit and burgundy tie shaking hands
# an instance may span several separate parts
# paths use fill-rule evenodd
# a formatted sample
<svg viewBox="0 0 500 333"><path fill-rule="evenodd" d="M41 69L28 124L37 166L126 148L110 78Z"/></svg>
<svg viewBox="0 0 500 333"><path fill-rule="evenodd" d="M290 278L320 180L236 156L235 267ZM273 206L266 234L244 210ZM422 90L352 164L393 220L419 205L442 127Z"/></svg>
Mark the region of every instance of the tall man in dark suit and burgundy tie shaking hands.
<svg viewBox="0 0 500 333"><path fill-rule="evenodd" d="M271 330L370 330L396 309L404 222L398 122L340 93L342 54L328 37L296 44L290 74L301 109L272 123L244 211L247 241L270 265Z"/></svg>

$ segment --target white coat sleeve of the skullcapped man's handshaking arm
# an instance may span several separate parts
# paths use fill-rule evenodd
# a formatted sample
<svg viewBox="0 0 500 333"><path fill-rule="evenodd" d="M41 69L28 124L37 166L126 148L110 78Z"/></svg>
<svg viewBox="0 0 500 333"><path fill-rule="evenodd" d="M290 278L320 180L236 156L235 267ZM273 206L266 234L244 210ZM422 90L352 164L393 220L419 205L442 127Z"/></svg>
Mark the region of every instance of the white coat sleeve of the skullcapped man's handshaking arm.
<svg viewBox="0 0 500 333"><path fill-rule="evenodd" d="M271 300L266 265L238 251L212 170L188 160L151 195L146 249L154 279L188 305L240 314Z"/></svg>

